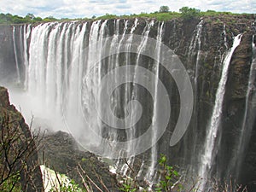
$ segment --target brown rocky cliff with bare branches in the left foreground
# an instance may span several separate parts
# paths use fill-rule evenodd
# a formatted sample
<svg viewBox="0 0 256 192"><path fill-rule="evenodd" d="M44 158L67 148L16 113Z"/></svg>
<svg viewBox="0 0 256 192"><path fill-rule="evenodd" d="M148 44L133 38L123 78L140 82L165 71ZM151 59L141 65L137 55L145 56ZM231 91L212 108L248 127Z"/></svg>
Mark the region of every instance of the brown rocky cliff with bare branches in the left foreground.
<svg viewBox="0 0 256 192"><path fill-rule="evenodd" d="M10 105L8 91L3 87L0 87L0 120L1 177L9 176L12 181L14 174L20 172L17 181L22 191L44 191L35 141L22 115Z"/></svg>

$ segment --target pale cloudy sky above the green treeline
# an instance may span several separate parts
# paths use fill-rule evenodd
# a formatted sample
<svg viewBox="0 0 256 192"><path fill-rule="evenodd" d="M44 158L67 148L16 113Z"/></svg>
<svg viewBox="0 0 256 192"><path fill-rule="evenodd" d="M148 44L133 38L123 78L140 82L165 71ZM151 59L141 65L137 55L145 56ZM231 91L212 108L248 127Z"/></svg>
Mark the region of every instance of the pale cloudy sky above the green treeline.
<svg viewBox="0 0 256 192"><path fill-rule="evenodd" d="M154 12L161 5L171 11L187 6L191 8L213 9L234 13L255 13L256 0L0 0L0 12L25 16L54 16L56 18L84 18L92 15L130 15Z"/></svg>

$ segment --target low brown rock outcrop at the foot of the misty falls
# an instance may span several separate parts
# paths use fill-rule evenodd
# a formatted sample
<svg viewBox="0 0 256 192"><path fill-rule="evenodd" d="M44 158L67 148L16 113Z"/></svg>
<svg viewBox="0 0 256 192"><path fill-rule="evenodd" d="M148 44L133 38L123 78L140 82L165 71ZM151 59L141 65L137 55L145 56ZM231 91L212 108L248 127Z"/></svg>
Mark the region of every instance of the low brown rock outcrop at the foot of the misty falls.
<svg viewBox="0 0 256 192"><path fill-rule="evenodd" d="M44 165L49 166L49 168L56 172L66 174L68 177L74 179L75 183L79 183L82 188L84 185L77 171L78 164L85 171L85 174L81 172L84 178L85 175L88 175L103 191L104 187L102 183L110 191L119 191L115 175L108 171L108 164L99 160L95 154L79 148L79 144L67 132L57 131L47 133L41 141L41 145L42 148L39 154L41 160L44 161ZM102 179L102 183L100 179ZM98 191L95 186L92 185L92 187L94 191Z"/></svg>

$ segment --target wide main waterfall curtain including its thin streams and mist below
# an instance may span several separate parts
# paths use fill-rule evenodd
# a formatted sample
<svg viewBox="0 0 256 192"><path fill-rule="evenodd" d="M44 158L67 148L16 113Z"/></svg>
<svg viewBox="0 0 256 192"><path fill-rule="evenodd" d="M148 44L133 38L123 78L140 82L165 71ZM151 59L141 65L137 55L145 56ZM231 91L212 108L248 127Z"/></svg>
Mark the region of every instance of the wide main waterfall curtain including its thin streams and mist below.
<svg viewBox="0 0 256 192"><path fill-rule="evenodd" d="M109 26L112 25L113 30L110 30ZM91 152L95 154L111 158L116 158L116 154L120 157L129 154L127 160L130 166L136 161L137 148L147 143L149 147L140 151L143 153L148 150L143 154L147 159L142 161L138 172L153 182L157 175L154 174L158 158L157 141L165 131L160 127L166 129L159 121L165 122L167 126L166 119L170 118L170 102L162 102L167 101L169 96L162 90L163 84L159 80L160 63L173 61L172 73L177 71L176 74L183 75L179 71L185 71L178 67L180 63L176 62L177 55L173 55L171 49L166 51L163 48L164 28L165 22L138 19L49 22L22 26L20 42L17 39L14 44L17 48L19 43L22 44L20 51L17 49L16 61L22 54L26 97L23 104L26 103L27 110L24 106L21 108L23 113L26 111L26 122L29 123L33 115L39 125L43 122L47 128L54 128L53 131L70 131L81 146L93 147ZM155 36L156 41L151 36ZM170 58L165 57L164 53ZM116 129L119 119L109 113L108 107L104 105L107 99L102 97L103 90L98 87L102 86L106 73L123 66L133 68L128 68L123 75L114 72L113 81L106 85L110 88L122 77L128 82L117 87L108 98L114 116L124 118L121 123L129 127L120 131ZM141 68L146 68L147 73L142 73ZM148 74L152 77L148 78ZM137 83L140 81L143 85ZM148 97L143 95L144 92ZM146 118L139 119L141 122L137 117L141 116L142 106L134 100L145 102L142 106ZM101 119L98 109L106 114L110 125ZM166 118L161 120L160 116L164 115L160 111L167 114ZM145 122L150 128L144 125ZM119 150L119 141L124 140L127 141L125 148ZM107 145L107 149L102 148L102 145ZM123 165L123 161L118 161L117 165L125 175L130 174L131 170Z"/></svg>

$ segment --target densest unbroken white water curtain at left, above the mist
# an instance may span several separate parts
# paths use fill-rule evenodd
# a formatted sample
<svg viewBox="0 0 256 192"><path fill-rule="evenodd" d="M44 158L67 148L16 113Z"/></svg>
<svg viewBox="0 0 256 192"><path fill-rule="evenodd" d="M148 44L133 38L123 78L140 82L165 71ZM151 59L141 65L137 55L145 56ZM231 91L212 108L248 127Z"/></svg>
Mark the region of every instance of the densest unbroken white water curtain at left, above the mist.
<svg viewBox="0 0 256 192"><path fill-rule="evenodd" d="M67 116L71 110L73 116L79 113L85 30L86 23L45 23L28 29L24 37L26 41L31 33L26 84L34 106L32 113L49 119L56 128L65 126L61 119L62 100Z"/></svg>

